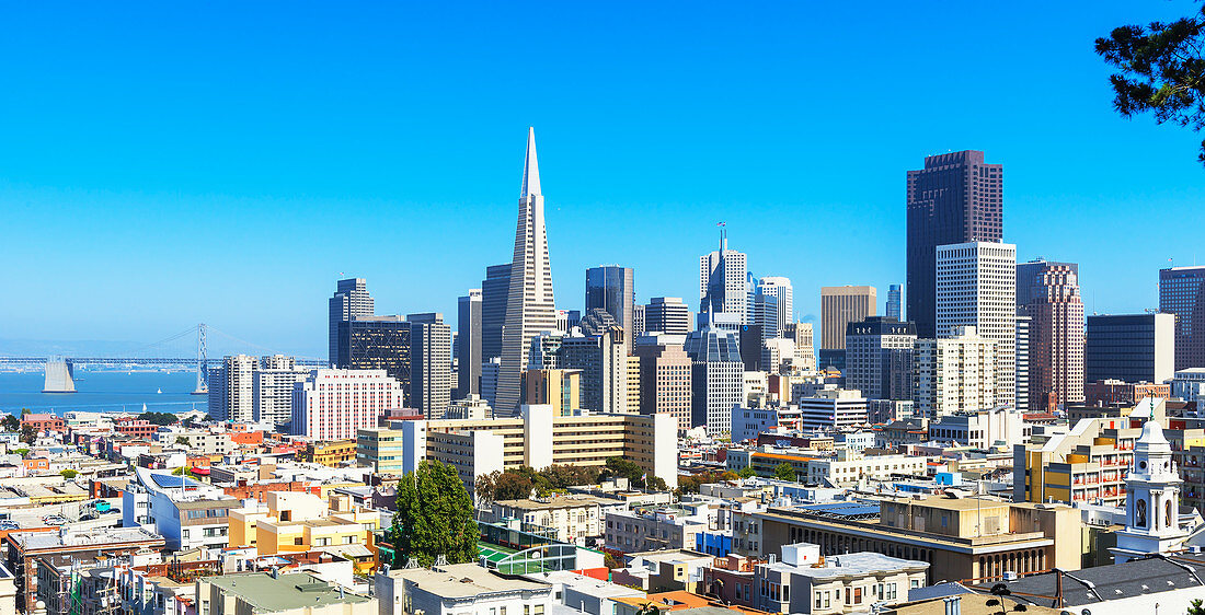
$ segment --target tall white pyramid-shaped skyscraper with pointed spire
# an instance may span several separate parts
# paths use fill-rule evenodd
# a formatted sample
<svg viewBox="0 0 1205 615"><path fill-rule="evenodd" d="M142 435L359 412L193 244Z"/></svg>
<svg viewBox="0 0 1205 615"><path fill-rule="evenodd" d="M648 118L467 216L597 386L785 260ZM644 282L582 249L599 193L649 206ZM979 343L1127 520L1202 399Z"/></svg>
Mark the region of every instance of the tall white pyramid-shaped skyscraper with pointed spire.
<svg viewBox="0 0 1205 615"><path fill-rule="evenodd" d="M523 187L519 189L518 224L515 229L515 259L511 262L511 294L506 301L502 327L502 365L498 374L495 415L518 412L522 374L528 347L541 331L557 327L557 304L552 296L552 264L543 224L543 195L535 155L535 129L528 130Z"/></svg>

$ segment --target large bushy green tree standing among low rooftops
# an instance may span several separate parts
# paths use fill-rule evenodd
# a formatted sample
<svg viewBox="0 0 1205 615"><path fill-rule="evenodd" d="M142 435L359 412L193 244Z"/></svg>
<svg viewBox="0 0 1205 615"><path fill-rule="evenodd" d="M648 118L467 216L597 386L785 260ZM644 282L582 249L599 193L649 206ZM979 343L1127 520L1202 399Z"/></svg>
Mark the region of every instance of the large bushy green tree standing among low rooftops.
<svg viewBox="0 0 1205 615"><path fill-rule="evenodd" d="M430 566L440 555L448 563L477 560L477 522L472 501L455 468L423 461L398 481L398 513L387 537L394 546L394 566L415 560Z"/></svg>

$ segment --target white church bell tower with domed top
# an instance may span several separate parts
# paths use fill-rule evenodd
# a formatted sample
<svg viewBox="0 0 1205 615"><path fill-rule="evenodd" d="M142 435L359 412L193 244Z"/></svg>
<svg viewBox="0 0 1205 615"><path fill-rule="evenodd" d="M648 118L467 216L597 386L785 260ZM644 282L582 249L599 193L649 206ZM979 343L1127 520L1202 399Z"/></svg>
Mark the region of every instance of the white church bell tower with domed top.
<svg viewBox="0 0 1205 615"><path fill-rule="evenodd" d="M1117 532L1117 546L1110 549L1117 563L1182 548L1188 533L1180 528L1180 484L1163 427L1146 421L1125 475L1125 530Z"/></svg>

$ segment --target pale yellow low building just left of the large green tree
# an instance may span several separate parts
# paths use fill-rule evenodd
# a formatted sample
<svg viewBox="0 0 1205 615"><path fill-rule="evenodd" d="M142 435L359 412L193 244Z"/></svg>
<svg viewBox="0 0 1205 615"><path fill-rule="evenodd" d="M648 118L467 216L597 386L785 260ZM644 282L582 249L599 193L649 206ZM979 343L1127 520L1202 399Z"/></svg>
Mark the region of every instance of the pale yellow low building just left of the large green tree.
<svg viewBox="0 0 1205 615"><path fill-rule="evenodd" d="M380 513L355 509L343 495L331 495L329 502L296 491L265 496L264 508L230 511L231 548L254 546L259 555L329 550L351 557L358 573L376 567Z"/></svg>

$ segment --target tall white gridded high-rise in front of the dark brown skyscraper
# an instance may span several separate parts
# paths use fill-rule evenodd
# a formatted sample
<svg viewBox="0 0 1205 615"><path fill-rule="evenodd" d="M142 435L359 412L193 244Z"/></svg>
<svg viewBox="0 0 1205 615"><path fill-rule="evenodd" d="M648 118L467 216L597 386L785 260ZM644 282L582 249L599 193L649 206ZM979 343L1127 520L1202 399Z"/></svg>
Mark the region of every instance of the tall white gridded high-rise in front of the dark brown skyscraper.
<svg viewBox="0 0 1205 615"><path fill-rule="evenodd" d="M1017 247L969 242L937 246L937 337L960 326L997 345L994 402L1016 403Z"/></svg>

